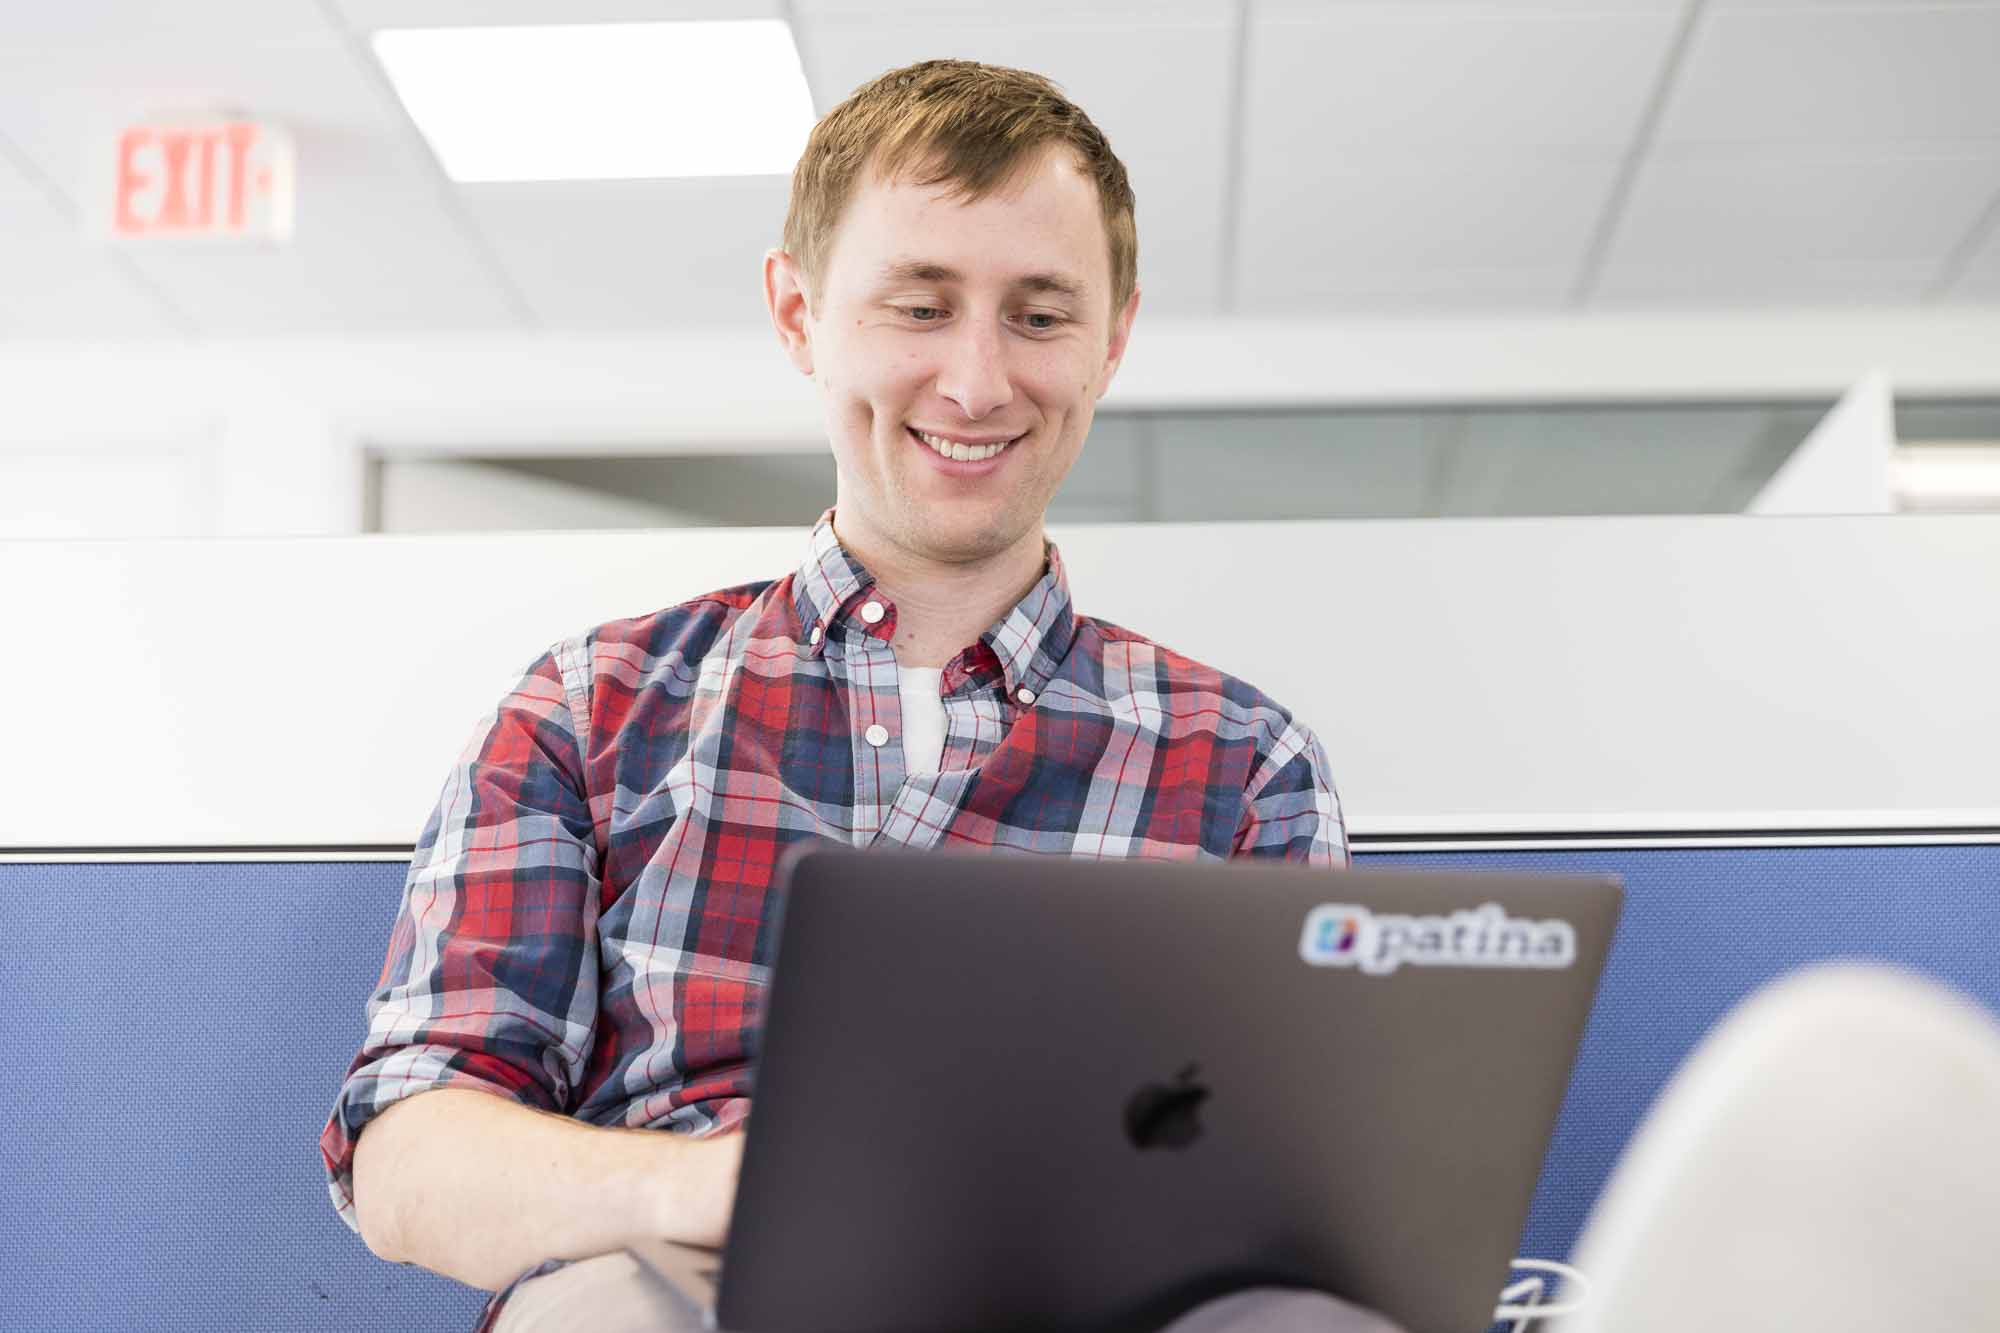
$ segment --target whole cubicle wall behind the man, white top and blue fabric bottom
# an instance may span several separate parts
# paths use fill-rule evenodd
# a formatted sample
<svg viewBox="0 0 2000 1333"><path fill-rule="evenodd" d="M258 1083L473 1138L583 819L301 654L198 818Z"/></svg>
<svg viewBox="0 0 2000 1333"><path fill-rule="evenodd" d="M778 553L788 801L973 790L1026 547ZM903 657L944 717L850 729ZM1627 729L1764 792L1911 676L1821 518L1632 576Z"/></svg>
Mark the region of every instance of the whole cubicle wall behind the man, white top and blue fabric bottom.
<svg viewBox="0 0 2000 1333"><path fill-rule="evenodd" d="M1526 1255L1760 983L1866 957L2000 1009L2000 520L1058 538L1086 610L1326 737L1362 865L1624 877ZM410 843L550 638L796 546L0 544L0 1327L470 1327L316 1153Z"/></svg>

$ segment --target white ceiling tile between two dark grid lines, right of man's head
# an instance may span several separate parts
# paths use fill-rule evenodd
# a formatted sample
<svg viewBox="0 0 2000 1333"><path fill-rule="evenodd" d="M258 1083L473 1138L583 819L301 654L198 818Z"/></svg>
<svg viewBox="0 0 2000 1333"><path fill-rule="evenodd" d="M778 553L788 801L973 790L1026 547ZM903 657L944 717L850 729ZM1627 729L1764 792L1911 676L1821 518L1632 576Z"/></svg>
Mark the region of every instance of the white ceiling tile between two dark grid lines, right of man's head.
<svg viewBox="0 0 2000 1333"><path fill-rule="evenodd" d="M1236 310L1568 300L1672 10L1258 16Z"/></svg>

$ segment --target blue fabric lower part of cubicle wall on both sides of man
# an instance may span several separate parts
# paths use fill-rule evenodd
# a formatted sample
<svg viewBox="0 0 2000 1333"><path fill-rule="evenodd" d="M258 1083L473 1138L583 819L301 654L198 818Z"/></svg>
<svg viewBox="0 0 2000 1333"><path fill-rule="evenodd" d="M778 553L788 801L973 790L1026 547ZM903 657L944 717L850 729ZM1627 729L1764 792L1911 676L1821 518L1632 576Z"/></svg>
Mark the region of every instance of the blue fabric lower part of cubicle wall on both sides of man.
<svg viewBox="0 0 2000 1333"><path fill-rule="evenodd" d="M2000 1009L2000 847L1364 855L1610 871L1626 915L1520 1253L1564 1257L1688 1049L1846 957ZM366 1251L318 1133L400 863L0 865L0 1329L470 1329L484 1295ZM1524 1033L1524 1041L1532 1041Z"/></svg>

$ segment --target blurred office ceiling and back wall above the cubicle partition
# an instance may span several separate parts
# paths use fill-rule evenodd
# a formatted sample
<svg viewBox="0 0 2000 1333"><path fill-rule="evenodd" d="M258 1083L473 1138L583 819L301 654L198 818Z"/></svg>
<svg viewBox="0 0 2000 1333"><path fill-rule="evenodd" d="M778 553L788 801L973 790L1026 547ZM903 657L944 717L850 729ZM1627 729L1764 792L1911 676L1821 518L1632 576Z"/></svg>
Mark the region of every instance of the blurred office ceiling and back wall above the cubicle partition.
<svg viewBox="0 0 2000 1333"><path fill-rule="evenodd" d="M0 18L0 538L796 522L786 178L456 180L376 48L714 18L816 112L972 56L1110 134L1144 304L1058 518L1736 512L1870 370L2000 494L1994 4L84 0ZM290 240L106 238L190 114L290 134Z"/></svg>

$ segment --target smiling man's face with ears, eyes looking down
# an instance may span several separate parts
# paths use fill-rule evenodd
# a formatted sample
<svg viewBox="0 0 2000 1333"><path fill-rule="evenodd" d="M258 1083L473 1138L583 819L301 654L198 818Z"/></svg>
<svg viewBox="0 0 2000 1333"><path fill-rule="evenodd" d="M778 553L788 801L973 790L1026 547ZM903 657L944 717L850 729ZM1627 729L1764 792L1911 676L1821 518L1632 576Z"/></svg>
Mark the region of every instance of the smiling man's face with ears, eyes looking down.
<svg viewBox="0 0 2000 1333"><path fill-rule="evenodd" d="M1114 318L1096 186L1068 152L982 200L948 194L864 176L786 342L820 386L842 538L960 564L1040 552L1138 294ZM766 286L784 332L784 278Z"/></svg>

